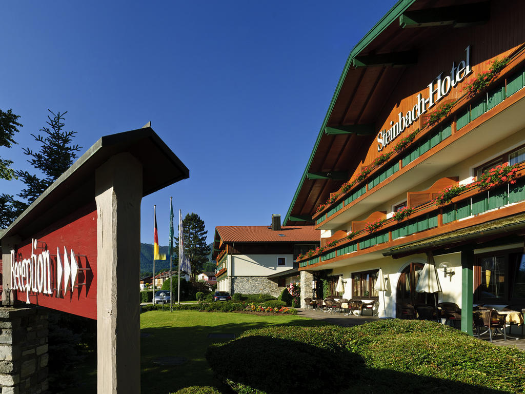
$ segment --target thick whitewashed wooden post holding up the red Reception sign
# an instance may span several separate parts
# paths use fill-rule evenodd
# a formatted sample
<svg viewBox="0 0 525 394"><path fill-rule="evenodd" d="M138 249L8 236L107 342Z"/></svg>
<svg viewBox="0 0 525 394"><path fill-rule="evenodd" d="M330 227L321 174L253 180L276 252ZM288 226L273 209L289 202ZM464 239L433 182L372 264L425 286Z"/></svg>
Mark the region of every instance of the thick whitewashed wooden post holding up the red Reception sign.
<svg viewBox="0 0 525 394"><path fill-rule="evenodd" d="M97 392L140 393L142 165L119 153L96 172Z"/></svg>

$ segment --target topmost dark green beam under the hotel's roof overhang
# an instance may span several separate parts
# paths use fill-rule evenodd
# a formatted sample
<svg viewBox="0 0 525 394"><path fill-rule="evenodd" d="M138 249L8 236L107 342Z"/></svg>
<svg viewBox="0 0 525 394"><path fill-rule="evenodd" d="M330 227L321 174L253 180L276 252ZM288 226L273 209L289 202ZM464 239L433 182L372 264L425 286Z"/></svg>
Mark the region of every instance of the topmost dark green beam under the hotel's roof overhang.
<svg viewBox="0 0 525 394"><path fill-rule="evenodd" d="M489 19L490 2L480 2L405 11L399 17L399 25L401 28L446 25L469 27L485 24Z"/></svg>

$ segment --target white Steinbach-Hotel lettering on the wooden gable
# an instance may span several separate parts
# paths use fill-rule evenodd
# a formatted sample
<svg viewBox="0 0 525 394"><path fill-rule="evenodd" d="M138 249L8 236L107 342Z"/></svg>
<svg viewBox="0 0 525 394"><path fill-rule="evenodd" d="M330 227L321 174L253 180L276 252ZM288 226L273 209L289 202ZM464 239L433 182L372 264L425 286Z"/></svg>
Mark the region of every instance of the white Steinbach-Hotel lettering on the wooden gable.
<svg viewBox="0 0 525 394"><path fill-rule="evenodd" d="M394 141L399 134L410 127L421 115L432 108L439 100L447 96L450 90L472 72L470 68L470 45L465 48L465 60L461 60L458 65L452 62L450 75L442 78L441 72L430 84L428 84L428 98L424 99L421 93L416 97L416 104L411 111L405 115L398 113L398 120L394 123L390 121L390 129L382 130L377 134L377 151L381 152L389 143Z"/></svg>

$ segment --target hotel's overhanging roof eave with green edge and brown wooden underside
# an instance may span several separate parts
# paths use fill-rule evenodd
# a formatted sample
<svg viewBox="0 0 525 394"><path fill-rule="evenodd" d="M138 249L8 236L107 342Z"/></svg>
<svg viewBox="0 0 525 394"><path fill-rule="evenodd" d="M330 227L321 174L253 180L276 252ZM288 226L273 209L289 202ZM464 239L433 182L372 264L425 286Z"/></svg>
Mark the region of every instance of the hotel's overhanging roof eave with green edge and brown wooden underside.
<svg viewBox="0 0 525 394"><path fill-rule="evenodd" d="M456 27L486 22L491 6L480 0L400 0L361 39L346 61L284 225L312 225L298 219L311 218L361 165L376 138L379 114L388 109L407 67L417 64L418 48ZM352 131L354 126L360 128ZM311 179L314 173L328 176Z"/></svg>

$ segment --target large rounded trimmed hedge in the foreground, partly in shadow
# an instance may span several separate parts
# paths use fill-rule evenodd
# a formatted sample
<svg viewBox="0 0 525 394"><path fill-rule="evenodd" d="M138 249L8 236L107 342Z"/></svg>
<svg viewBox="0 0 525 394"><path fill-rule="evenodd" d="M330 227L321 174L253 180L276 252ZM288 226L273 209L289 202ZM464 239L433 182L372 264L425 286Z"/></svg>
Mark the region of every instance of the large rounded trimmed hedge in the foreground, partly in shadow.
<svg viewBox="0 0 525 394"><path fill-rule="evenodd" d="M525 392L525 352L425 320L261 328L211 345L206 358L245 394ZM301 373L267 378L283 370Z"/></svg>

